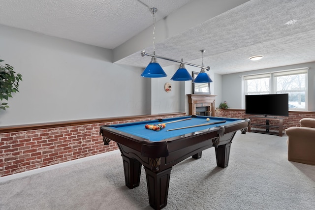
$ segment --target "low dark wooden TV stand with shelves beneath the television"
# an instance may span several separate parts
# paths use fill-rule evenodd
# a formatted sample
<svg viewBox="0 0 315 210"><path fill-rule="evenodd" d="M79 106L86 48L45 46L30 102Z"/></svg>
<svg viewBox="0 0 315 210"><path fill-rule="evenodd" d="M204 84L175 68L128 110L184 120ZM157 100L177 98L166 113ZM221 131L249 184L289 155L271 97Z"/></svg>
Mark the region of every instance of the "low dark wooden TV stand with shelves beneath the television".
<svg viewBox="0 0 315 210"><path fill-rule="evenodd" d="M248 132L265 133L265 134L272 134L272 135L278 135L278 136L283 135L283 124L284 124L283 118L254 116L254 117L250 117L250 120L251 120L251 125L248 128ZM265 120L265 124L262 124L263 120ZM270 125L269 120L276 120L277 121L276 125ZM258 122L255 122L255 121L258 121ZM252 129L253 126L265 127L266 130L265 131L253 130ZM276 128L278 132L269 131L270 128Z"/></svg>

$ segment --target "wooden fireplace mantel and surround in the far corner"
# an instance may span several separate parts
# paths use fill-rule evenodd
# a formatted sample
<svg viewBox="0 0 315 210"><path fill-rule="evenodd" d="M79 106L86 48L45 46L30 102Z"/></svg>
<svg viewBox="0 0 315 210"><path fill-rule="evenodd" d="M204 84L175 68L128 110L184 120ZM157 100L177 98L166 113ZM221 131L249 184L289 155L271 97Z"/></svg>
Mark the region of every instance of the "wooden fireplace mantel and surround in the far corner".
<svg viewBox="0 0 315 210"><path fill-rule="evenodd" d="M189 115L196 115L196 107L207 107L208 116L215 115L215 101L217 95L188 94Z"/></svg>

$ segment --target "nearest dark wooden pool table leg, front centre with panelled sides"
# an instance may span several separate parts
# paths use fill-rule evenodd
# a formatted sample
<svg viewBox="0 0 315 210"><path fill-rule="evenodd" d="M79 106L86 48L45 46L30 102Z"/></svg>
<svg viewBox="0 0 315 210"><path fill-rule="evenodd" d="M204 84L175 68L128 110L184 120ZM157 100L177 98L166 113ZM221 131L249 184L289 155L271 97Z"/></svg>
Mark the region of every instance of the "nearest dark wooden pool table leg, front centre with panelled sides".
<svg viewBox="0 0 315 210"><path fill-rule="evenodd" d="M146 167L144 167L144 169L146 170L150 206L155 210L160 210L167 204L168 186L172 167L158 173Z"/></svg>

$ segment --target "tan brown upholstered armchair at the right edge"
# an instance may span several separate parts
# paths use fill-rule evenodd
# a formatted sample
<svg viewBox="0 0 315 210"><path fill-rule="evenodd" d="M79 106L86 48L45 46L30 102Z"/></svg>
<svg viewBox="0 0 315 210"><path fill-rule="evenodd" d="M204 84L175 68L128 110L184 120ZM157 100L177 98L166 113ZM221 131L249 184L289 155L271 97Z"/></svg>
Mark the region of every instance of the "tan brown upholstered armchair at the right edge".
<svg viewBox="0 0 315 210"><path fill-rule="evenodd" d="M301 127L285 129L289 161L315 165L315 119L300 120Z"/></svg>

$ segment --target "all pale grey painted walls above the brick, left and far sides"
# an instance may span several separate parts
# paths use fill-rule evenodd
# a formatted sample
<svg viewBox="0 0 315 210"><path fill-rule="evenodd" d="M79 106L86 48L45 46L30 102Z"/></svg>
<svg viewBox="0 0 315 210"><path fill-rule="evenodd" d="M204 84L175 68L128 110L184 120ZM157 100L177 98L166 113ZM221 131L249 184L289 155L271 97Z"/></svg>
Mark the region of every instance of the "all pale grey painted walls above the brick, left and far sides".
<svg viewBox="0 0 315 210"><path fill-rule="evenodd" d="M167 77L143 78L143 68L112 63L112 50L0 25L0 59L23 75L20 92L0 110L0 126L85 120L172 112L188 113L191 81L171 81L178 64L164 68ZM242 76L310 67L308 109L315 111L315 62L228 75L207 72L214 81L216 107L244 108ZM190 73L198 68L186 65ZM172 91L164 90L165 83Z"/></svg>

